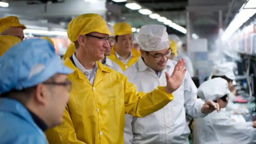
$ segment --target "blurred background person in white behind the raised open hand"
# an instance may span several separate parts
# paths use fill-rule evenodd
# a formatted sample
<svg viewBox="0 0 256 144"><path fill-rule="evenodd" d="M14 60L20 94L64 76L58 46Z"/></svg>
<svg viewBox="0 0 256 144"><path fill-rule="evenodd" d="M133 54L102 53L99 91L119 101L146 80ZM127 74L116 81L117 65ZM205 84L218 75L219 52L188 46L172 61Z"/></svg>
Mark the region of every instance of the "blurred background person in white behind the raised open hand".
<svg viewBox="0 0 256 144"><path fill-rule="evenodd" d="M178 55L175 57L174 61L178 61L178 60L183 58L186 62L186 68L187 68L190 76L194 77L194 68L193 68L192 61L187 56L187 54L183 51L183 49L181 47L182 42L181 42L180 38L177 35L172 34L172 35L169 36L169 39L172 40L173 42L175 42L175 44L177 45Z"/></svg>

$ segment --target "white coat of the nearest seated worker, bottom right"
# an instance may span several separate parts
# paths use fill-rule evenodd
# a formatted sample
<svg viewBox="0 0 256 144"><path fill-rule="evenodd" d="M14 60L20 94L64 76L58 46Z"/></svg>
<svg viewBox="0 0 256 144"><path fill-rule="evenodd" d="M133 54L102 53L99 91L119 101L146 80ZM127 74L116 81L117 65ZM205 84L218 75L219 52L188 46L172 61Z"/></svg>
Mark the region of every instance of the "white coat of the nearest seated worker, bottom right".
<svg viewBox="0 0 256 144"><path fill-rule="evenodd" d="M194 144L252 144L253 137L252 122L233 122L222 111L194 119Z"/></svg>

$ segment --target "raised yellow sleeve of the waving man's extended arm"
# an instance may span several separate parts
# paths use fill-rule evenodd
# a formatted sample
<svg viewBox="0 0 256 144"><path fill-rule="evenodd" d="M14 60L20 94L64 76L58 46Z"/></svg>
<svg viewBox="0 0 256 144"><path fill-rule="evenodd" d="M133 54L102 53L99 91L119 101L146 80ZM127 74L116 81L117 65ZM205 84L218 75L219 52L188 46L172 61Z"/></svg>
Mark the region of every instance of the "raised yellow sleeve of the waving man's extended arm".
<svg viewBox="0 0 256 144"><path fill-rule="evenodd" d="M158 86L158 89L145 94L137 92L134 84L124 82L124 101L125 113L135 117L145 117L153 112L158 111L173 100L173 95L164 90L164 86Z"/></svg>

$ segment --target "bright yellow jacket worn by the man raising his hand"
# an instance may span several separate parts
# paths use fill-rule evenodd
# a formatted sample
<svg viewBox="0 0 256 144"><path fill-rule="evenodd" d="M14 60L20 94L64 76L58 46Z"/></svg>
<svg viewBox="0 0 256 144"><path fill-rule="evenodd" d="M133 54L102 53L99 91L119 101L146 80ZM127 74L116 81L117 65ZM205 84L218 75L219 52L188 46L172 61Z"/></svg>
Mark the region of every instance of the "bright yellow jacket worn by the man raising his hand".
<svg viewBox="0 0 256 144"><path fill-rule="evenodd" d="M126 76L99 62L94 85L69 58L64 64L74 70L72 91L63 123L46 132L50 144L123 144L125 114L143 117L173 100L164 87L138 93Z"/></svg>

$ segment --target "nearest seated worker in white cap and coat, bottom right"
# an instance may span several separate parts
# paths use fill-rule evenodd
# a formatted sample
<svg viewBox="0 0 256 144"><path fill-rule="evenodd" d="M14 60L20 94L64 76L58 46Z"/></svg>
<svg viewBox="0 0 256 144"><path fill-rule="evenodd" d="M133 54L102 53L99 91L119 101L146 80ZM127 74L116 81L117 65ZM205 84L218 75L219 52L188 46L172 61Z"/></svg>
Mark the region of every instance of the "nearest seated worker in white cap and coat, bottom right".
<svg viewBox="0 0 256 144"><path fill-rule="evenodd" d="M230 91L228 82L223 78L205 81L198 88L198 97L212 100L225 108ZM204 118L194 119L195 144L251 144L255 143L256 122L235 122L225 112L214 111ZM254 142L253 142L254 141Z"/></svg>

